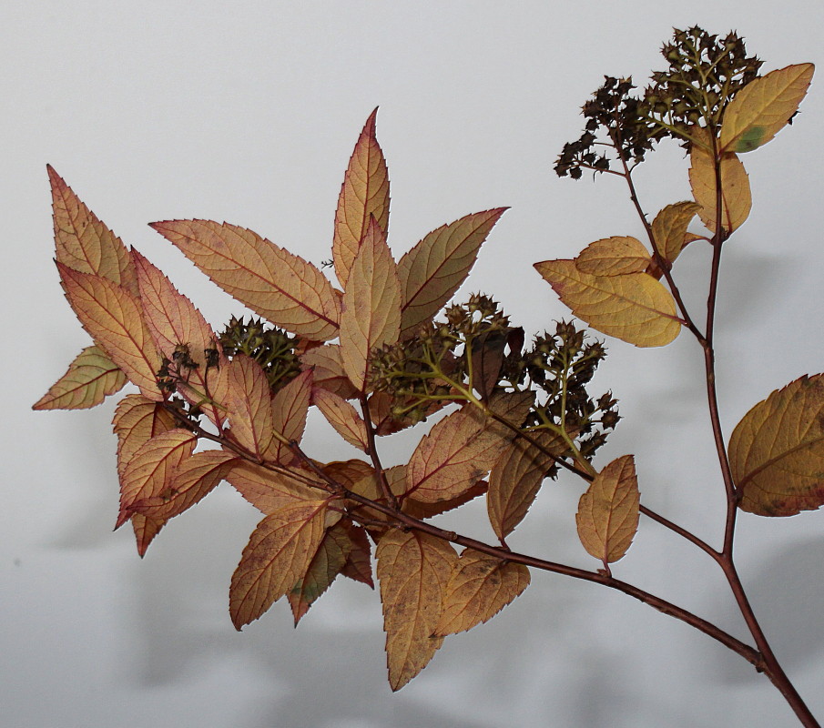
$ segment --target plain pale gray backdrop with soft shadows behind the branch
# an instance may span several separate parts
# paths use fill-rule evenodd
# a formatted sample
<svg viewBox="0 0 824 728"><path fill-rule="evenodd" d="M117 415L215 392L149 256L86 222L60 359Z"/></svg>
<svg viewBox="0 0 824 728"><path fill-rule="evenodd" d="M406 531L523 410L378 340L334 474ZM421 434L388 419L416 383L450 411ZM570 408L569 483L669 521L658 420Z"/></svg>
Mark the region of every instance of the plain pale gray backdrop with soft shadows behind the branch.
<svg viewBox="0 0 824 728"><path fill-rule="evenodd" d="M257 511L226 486L135 553L117 512L115 400L29 408L86 346L51 262L46 162L109 227L168 272L215 326L239 306L146 223L209 217L329 258L334 207L363 121L392 178L400 256L433 227L512 206L463 288L529 332L566 315L532 263L639 234L620 180L558 179L602 76L643 81L673 25L736 28L765 70L820 61L819 0L682 2L5 2L2 130L3 507L0 710L7 726L780 726L778 693L737 655L619 593L534 572L493 622L450 638L392 694L377 595L336 583L297 631L277 604L235 632L229 578ZM819 75L821 71L819 70ZM754 210L728 245L718 302L727 434L772 389L822 369L820 127L814 79L792 129L744 158ZM688 197L674 145L637 176L646 210ZM703 305L707 248L676 268ZM608 339L596 381L625 420L602 464L634 452L643 500L717 544L723 489L702 359ZM323 423L307 449L351 457ZM413 440L388 443L400 462ZM574 480L549 483L513 546L593 567L575 537ZM742 515L738 563L768 635L824 716L821 513ZM483 502L445 520L491 538ZM746 631L707 557L643 520L616 575Z"/></svg>

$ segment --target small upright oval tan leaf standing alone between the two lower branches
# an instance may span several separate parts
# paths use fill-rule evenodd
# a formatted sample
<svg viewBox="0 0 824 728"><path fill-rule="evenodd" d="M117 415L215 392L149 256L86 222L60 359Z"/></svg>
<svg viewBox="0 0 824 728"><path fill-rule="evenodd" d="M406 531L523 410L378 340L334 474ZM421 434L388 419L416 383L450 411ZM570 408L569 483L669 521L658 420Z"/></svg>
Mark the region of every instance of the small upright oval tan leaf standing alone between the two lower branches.
<svg viewBox="0 0 824 728"><path fill-rule="evenodd" d="M621 559L635 538L639 507L636 463L624 455L595 475L578 501L575 524L586 551L604 564Z"/></svg>

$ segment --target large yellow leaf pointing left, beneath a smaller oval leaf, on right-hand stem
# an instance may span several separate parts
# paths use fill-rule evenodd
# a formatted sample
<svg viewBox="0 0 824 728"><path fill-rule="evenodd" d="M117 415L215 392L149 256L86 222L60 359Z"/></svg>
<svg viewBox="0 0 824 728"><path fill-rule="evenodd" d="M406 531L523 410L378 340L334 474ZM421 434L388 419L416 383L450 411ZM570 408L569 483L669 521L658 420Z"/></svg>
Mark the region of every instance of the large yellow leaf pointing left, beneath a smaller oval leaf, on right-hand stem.
<svg viewBox="0 0 824 728"><path fill-rule="evenodd" d="M575 316L602 333L636 347L661 347L681 331L675 301L648 273L591 276L574 260L544 260L534 268Z"/></svg>

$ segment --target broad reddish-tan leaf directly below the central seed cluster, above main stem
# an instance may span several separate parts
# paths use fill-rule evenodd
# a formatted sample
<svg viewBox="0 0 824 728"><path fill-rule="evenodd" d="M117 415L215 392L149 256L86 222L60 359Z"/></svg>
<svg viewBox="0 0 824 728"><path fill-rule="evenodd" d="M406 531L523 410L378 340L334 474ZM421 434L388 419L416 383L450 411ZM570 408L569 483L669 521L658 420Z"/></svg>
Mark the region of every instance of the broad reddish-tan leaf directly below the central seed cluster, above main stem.
<svg viewBox="0 0 824 728"><path fill-rule="evenodd" d="M453 412L432 427L412 453L407 494L422 503L459 497L483 480L506 444L504 433L471 409Z"/></svg>

